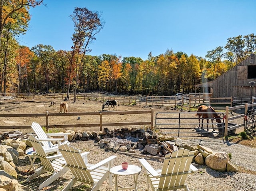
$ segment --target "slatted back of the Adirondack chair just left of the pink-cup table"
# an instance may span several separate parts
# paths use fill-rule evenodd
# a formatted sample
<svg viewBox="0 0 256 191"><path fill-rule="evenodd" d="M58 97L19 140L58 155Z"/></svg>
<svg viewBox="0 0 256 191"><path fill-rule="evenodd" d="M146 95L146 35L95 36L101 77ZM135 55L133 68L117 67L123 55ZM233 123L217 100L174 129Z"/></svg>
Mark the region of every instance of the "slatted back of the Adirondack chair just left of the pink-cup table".
<svg viewBox="0 0 256 191"><path fill-rule="evenodd" d="M94 182L90 172L87 170L86 163L81 156L80 150L67 144L62 144L59 146L59 152L66 160L65 166L70 168L75 179L87 183Z"/></svg>

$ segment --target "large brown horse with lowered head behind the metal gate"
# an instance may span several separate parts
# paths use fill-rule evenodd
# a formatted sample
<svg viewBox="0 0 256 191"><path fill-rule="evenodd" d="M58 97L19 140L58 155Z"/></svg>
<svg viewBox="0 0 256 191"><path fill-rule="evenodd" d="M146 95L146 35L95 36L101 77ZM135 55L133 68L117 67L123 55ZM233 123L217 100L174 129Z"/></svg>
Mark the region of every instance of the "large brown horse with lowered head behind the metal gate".
<svg viewBox="0 0 256 191"><path fill-rule="evenodd" d="M202 113L202 112L204 112L204 113ZM221 123L220 116L216 113L214 108L212 108L211 106L201 105L200 107L198 107L196 116L198 116L199 128L200 128L200 118L201 118L201 116L202 116L202 128L204 128L203 127L203 120L204 120L204 118L206 118L206 120L207 120L207 131L208 131L209 118L212 120L213 130L214 130L214 127L213 127L214 118L216 118L217 123Z"/></svg>

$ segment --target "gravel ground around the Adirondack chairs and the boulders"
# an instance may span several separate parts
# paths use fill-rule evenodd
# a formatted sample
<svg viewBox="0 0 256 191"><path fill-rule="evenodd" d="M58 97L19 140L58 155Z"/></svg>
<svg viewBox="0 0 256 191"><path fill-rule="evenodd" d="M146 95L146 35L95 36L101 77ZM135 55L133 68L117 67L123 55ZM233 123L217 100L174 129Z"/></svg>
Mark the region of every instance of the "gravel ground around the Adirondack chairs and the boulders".
<svg viewBox="0 0 256 191"><path fill-rule="evenodd" d="M207 146L214 151L223 151L232 154L232 163L237 165L242 169L247 169L256 172L256 149L242 146L239 144L234 144L232 142L224 142L222 139L188 139L185 140L188 144L196 145L201 144ZM114 152L106 152L104 149L100 149L96 142L93 140L88 141L78 141L70 142L72 146L82 150L82 152L90 152L88 155L89 163L97 163L109 156L115 155L117 158L114 160L114 165L120 165L122 161L128 161L130 164L138 165L138 158L134 156L118 154ZM139 153L139 152L138 152ZM154 168L160 168L162 166L161 159L147 159L148 162ZM37 159L38 163L39 160ZM28 156L20 157L18 168L18 181L22 185L27 185L33 189L33 191L38 190L38 185L42 183L46 178L49 177L50 173L44 173L40 175L40 178L35 179L29 183L25 180L30 175L26 173L29 164ZM214 171L208 168L206 165L199 165L199 171L188 175L186 179L186 184L190 188L190 191L255 191L256 190L256 175L252 173L242 173L242 172L220 172ZM146 191L146 177L144 176L145 171L142 169L138 176L138 191ZM70 171L62 175L59 179L54 181L48 187L44 188L46 191L61 191L65 185L68 184L72 177ZM130 187L133 183L132 176L118 176L118 185L120 187ZM114 185L114 178L113 178ZM73 191L89 191L90 188L81 183L76 183ZM114 187L110 188L108 181L105 181L100 187L100 191L113 191ZM180 189L181 191L183 189Z"/></svg>

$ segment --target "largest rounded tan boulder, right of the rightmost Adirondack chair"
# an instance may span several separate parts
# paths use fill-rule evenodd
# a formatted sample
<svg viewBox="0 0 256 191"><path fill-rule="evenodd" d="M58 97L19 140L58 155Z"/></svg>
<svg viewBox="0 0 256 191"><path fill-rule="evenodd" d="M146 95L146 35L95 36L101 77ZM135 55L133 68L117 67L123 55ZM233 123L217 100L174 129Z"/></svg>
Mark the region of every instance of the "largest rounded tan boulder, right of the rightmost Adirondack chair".
<svg viewBox="0 0 256 191"><path fill-rule="evenodd" d="M205 164L218 171L226 171L228 161L230 158L225 152L214 152L205 158Z"/></svg>

